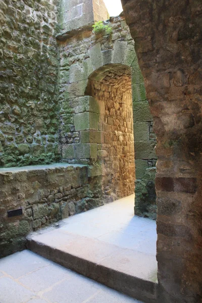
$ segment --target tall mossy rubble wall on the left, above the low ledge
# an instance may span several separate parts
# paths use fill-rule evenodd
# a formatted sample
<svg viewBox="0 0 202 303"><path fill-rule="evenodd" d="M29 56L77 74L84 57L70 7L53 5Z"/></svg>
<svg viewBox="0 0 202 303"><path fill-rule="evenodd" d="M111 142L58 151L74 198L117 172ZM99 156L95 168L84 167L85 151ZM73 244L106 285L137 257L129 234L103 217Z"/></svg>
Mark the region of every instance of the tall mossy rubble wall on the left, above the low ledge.
<svg viewBox="0 0 202 303"><path fill-rule="evenodd" d="M0 167L60 159L57 4L0 1Z"/></svg>

